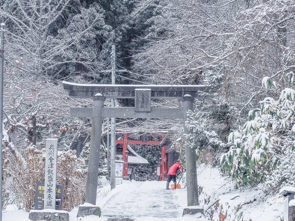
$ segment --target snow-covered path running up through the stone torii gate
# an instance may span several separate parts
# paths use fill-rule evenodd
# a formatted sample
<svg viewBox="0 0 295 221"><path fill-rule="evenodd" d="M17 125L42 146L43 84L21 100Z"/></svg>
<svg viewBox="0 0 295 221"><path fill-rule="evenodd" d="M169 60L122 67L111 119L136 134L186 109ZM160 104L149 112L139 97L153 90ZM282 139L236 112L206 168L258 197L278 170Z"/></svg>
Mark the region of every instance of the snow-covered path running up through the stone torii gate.
<svg viewBox="0 0 295 221"><path fill-rule="evenodd" d="M171 182L172 183L172 182ZM178 190L166 190L165 182L134 182L110 198L101 208L109 221L140 218L175 218L182 215Z"/></svg>

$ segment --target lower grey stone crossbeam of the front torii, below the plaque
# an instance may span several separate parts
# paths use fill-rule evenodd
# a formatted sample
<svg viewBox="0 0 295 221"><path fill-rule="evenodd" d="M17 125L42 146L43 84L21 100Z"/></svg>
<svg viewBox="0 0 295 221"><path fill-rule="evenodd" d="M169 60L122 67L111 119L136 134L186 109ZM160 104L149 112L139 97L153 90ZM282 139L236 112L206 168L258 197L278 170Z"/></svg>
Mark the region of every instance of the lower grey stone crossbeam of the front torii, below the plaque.
<svg viewBox="0 0 295 221"><path fill-rule="evenodd" d="M71 108L71 117L92 118L92 116L93 108ZM102 108L102 117L182 119L183 108L151 108L150 112L137 112L135 108Z"/></svg>

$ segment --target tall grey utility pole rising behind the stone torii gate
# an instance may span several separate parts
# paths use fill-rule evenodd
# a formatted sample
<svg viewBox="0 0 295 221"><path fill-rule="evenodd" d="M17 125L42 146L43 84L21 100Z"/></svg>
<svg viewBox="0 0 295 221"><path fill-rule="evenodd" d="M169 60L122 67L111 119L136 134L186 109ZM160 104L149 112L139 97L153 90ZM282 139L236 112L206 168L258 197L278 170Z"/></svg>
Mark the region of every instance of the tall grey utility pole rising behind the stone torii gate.
<svg viewBox="0 0 295 221"><path fill-rule="evenodd" d="M116 84L116 49L112 46L112 84ZM116 106L115 99L112 98L112 107ZM111 118L111 189L116 187L116 118Z"/></svg>

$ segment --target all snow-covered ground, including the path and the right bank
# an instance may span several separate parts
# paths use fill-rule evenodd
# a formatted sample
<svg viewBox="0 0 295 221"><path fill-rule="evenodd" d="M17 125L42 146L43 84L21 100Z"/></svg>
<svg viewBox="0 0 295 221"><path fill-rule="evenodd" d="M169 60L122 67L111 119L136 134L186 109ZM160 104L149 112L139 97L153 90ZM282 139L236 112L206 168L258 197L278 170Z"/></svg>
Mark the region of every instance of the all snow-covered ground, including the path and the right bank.
<svg viewBox="0 0 295 221"><path fill-rule="evenodd" d="M185 180L185 179L183 179ZM217 169L198 166L199 201L206 217L182 217L186 207L186 189L166 190L165 182L124 182L110 190L107 184L98 189L96 204L103 217L87 217L81 221L281 221L283 198L268 196L257 189L239 189L231 181L220 177ZM103 182L105 184L106 182ZM70 212L70 220L76 221L78 208ZM16 210L12 205L3 213L3 221L28 221L28 212ZM80 220L80 219L79 219Z"/></svg>

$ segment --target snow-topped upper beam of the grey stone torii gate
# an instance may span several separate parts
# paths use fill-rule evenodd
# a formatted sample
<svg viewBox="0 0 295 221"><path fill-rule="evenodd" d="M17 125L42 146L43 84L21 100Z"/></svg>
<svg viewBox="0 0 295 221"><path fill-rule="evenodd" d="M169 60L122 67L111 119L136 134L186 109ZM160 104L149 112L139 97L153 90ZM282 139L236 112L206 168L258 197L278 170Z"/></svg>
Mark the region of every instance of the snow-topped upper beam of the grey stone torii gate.
<svg viewBox="0 0 295 221"><path fill-rule="evenodd" d="M135 89L151 89L151 98L179 99L189 94L200 99L201 92L209 92L205 85L107 85L77 84L63 81L63 88L71 98L93 98L100 93L105 98L135 98Z"/></svg>

